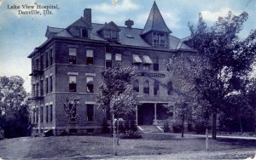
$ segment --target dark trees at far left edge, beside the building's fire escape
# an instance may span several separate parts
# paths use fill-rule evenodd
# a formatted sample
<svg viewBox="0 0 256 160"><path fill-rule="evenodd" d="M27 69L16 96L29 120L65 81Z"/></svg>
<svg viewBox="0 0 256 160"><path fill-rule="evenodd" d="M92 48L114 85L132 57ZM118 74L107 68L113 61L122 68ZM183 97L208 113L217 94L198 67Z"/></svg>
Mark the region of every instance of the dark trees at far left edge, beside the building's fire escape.
<svg viewBox="0 0 256 160"><path fill-rule="evenodd" d="M29 134L29 103L23 83L19 76L0 77L0 128L7 138Z"/></svg>

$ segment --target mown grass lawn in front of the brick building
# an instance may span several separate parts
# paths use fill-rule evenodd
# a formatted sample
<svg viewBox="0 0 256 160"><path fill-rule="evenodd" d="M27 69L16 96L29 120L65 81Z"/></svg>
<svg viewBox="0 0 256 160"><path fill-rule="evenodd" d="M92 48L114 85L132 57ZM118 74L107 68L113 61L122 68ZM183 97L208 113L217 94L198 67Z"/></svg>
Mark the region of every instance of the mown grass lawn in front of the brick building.
<svg viewBox="0 0 256 160"><path fill-rule="evenodd" d="M227 151L230 154L216 154L211 158L230 157L237 151L245 154L234 155L232 158L252 157L256 151L256 142L247 140L209 140L209 151L205 151L205 139L195 137L180 138L179 136L144 136L138 140L120 140L118 155L193 155L195 153L219 153ZM203 155L203 154L202 154ZM185 156L185 155L184 155ZM96 136L65 136L59 137L23 137L0 140L0 157L16 159L32 158L108 158L113 157L113 138L106 135Z"/></svg>

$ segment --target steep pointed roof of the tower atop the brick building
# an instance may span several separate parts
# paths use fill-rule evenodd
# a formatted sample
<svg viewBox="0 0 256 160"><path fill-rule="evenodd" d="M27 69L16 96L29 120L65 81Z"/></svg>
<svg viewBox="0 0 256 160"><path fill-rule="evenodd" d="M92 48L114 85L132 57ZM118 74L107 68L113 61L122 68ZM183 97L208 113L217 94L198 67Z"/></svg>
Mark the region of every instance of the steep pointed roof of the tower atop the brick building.
<svg viewBox="0 0 256 160"><path fill-rule="evenodd" d="M160 10L158 9L155 1L150 10L150 14L148 15L148 20L146 25L144 26L142 35L147 33L148 31L163 31L167 33L172 33L172 31L166 26L166 22L160 14Z"/></svg>

